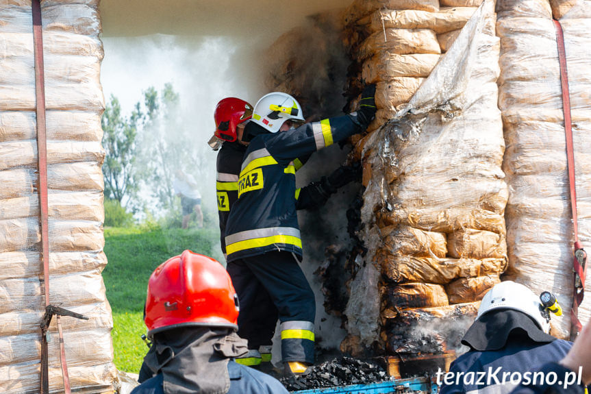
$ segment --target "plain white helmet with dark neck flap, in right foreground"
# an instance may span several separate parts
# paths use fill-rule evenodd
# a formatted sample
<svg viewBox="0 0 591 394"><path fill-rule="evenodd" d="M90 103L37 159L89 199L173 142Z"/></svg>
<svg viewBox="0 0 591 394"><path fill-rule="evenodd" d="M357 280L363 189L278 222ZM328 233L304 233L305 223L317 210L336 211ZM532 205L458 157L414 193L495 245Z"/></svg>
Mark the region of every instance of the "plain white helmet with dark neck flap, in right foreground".
<svg viewBox="0 0 591 394"><path fill-rule="evenodd" d="M486 293L481 301L476 319L482 315L497 309L512 309L525 313L531 317L540 330L548 334L550 332L549 318L544 316L544 306L540 297L536 297L533 291L529 290L523 284L515 283L510 280L494 285Z"/></svg>

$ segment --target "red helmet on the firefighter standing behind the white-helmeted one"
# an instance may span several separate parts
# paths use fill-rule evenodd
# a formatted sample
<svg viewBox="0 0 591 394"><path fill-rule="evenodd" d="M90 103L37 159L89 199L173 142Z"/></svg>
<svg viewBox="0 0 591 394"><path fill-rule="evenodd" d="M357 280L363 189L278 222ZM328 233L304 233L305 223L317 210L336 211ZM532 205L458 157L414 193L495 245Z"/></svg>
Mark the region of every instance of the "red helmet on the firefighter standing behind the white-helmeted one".
<svg viewBox="0 0 591 394"><path fill-rule="evenodd" d="M216 121L215 136L221 140L234 142L236 140L236 126L248 121L253 116L253 106L236 97L222 99L216 106L214 120Z"/></svg>

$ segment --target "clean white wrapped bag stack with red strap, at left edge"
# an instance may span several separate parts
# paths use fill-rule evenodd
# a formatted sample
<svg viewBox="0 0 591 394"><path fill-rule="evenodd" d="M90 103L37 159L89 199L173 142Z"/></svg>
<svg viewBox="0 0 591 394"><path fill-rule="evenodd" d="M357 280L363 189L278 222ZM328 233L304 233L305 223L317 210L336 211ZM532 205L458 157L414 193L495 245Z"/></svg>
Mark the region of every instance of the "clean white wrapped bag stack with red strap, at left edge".
<svg viewBox="0 0 591 394"><path fill-rule="evenodd" d="M104 109L97 0L41 1L49 200L51 304L63 317L73 391L110 393L112 315L101 271ZM36 393L45 312L40 256L36 95L30 0L0 8L0 391ZM41 280L40 280L41 279ZM55 319L49 327L49 389L63 391Z"/></svg>

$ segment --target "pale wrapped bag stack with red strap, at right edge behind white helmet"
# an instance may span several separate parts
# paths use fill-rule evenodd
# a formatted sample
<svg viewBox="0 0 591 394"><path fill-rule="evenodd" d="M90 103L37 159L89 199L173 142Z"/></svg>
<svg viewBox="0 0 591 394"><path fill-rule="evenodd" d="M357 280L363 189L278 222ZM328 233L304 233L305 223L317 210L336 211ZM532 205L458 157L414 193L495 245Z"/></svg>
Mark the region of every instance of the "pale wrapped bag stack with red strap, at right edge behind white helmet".
<svg viewBox="0 0 591 394"><path fill-rule="evenodd" d="M579 239L591 247L591 5L589 1L503 0L497 3L501 38L499 107L509 185L507 279L535 293L551 291L564 309L552 316L551 333L570 334L573 302L573 224L555 25L564 32L575 147ZM591 278L587 279L591 288ZM585 323L591 299L579 307Z"/></svg>

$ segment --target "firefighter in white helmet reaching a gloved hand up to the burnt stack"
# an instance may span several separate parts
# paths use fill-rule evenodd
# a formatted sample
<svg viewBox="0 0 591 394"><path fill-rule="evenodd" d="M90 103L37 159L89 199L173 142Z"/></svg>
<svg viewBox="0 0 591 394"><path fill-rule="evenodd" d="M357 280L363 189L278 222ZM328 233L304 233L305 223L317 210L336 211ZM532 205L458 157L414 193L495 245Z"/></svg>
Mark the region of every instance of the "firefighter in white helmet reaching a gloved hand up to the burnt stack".
<svg viewBox="0 0 591 394"><path fill-rule="evenodd" d="M314 293L299 261L302 245L297 222L295 158L310 155L363 132L375 116L375 86L362 93L360 110L347 116L306 123L297 101L270 93L255 106L244 128L250 140L240 168L238 201L226 227L227 270L236 285L243 319L239 333L250 343L267 340L251 317L257 295L266 291L279 312L281 356L286 373L303 373L314 363Z"/></svg>

